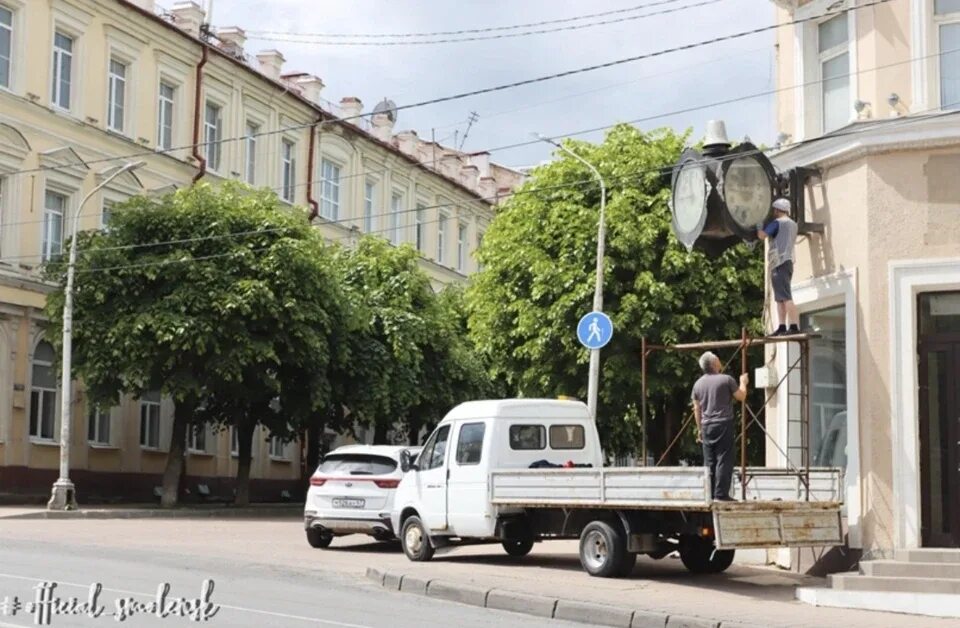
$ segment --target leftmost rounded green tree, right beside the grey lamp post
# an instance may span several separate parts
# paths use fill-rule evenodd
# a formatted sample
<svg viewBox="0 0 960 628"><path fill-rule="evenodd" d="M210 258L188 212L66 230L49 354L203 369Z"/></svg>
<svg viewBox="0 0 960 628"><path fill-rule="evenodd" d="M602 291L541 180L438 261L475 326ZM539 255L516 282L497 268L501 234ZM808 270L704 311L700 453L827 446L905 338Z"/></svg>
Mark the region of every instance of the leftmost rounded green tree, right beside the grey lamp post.
<svg viewBox="0 0 960 628"><path fill-rule="evenodd" d="M164 505L177 500L187 430L206 420L241 430L245 491L251 421L283 433L329 404L342 298L304 212L269 191L198 185L130 199L109 229L78 242L74 372L90 400L151 390L174 399ZM62 262L48 270L62 286ZM47 305L52 338L62 308L61 288ZM267 411L273 399L283 412Z"/></svg>

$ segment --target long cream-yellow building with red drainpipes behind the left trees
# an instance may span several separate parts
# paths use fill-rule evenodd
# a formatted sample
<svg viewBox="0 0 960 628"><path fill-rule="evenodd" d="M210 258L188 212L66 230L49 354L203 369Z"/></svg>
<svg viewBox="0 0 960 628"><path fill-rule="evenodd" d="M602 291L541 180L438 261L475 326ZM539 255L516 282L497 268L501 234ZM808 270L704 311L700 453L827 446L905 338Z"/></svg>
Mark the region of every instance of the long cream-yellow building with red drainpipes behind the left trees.
<svg viewBox="0 0 960 628"><path fill-rule="evenodd" d="M131 195L241 179L309 207L331 241L373 233L416 246L436 286L476 269L494 204L522 175L483 153L395 135L389 103L358 117L358 99L333 106L319 78L285 73L280 52L253 59L243 45L241 29L212 29L194 2L158 15L151 0L0 0L0 495L48 494L57 475L59 373L43 336L50 286L40 268L61 254L81 209L80 228L95 229ZM151 497L172 404L148 395L90 414L77 389L79 499ZM229 490L231 441L191 438L189 487ZM256 441L254 497L295 494L299 447L268 434Z"/></svg>

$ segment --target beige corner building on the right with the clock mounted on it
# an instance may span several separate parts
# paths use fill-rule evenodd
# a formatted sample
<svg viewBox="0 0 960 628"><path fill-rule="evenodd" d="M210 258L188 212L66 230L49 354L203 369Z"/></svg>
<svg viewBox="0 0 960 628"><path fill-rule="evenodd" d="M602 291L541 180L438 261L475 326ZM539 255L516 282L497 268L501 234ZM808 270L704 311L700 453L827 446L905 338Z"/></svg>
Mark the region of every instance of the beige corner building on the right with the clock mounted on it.
<svg viewBox="0 0 960 628"><path fill-rule="evenodd" d="M805 21L776 31L786 146L772 160L814 169L806 218L825 228L798 242L793 278L801 322L822 335L812 353L812 459L846 468L847 555L960 562L956 552L907 553L960 547L960 2L895 0L828 16L863 3L775 4L778 23ZM779 373L788 353L775 356ZM791 455L800 436L784 400L798 386L781 386L767 416ZM841 590L805 599L933 604L918 602L930 589L908 579L874 597L842 589L876 581L838 582ZM936 604L960 613L958 600Z"/></svg>

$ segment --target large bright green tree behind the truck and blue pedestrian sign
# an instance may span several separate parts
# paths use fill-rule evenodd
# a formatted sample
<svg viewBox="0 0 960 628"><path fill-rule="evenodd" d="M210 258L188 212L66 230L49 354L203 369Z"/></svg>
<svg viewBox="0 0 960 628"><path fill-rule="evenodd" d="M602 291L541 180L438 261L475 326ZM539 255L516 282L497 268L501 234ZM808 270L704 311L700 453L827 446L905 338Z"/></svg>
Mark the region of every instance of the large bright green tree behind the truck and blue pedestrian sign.
<svg viewBox="0 0 960 628"><path fill-rule="evenodd" d="M759 330L761 256L738 246L709 259L672 234L664 169L685 139L621 125L602 144L568 144L608 185L604 310L615 332L601 353L597 414L613 453L640 449L642 337L666 344ZM585 398L589 355L575 328L592 308L600 190L582 164L558 157L534 170L487 230L484 268L467 293L469 324L491 374L515 393ZM649 360L653 451L673 439L696 374L690 354ZM683 444L695 452L692 433Z"/></svg>

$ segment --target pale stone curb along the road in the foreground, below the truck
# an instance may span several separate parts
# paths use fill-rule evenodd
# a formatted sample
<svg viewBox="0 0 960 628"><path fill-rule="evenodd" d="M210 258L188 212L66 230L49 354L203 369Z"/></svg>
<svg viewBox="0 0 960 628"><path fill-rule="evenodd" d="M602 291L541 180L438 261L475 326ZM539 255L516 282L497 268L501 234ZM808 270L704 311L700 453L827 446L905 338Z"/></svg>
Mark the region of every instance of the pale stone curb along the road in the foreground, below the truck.
<svg viewBox="0 0 960 628"><path fill-rule="evenodd" d="M760 628L736 621L718 621L686 615L668 615L625 606L592 604L577 600L531 595L505 589L485 589L441 580L425 580L405 574L367 567L367 578L390 591L415 593L427 597L458 602L547 619L613 626L614 628Z"/></svg>

